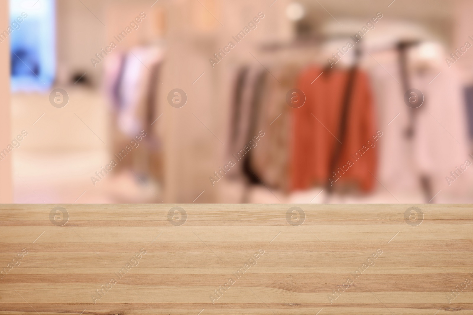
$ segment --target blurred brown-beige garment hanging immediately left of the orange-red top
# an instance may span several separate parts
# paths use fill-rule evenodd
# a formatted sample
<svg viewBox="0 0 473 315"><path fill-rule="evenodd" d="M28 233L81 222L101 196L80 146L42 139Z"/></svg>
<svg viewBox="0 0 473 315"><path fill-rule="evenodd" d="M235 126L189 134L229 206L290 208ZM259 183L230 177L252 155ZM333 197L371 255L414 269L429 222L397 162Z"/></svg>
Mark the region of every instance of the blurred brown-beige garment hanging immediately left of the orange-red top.
<svg viewBox="0 0 473 315"><path fill-rule="evenodd" d="M266 186L282 190L289 187L290 116L286 94L296 87L299 70L296 65L285 65L271 68L274 77L266 77L256 128L263 130L264 136L253 149L250 161Z"/></svg>

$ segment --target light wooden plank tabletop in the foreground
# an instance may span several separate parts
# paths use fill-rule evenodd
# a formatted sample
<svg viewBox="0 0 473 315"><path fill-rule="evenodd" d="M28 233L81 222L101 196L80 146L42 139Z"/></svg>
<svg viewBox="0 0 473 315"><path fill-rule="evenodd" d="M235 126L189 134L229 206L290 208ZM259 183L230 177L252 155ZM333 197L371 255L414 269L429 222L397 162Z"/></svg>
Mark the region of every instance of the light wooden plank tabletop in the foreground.
<svg viewBox="0 0 473 315"><path fill-rule="evenodd" d="M473 205L0 205L0 314L473 314Z"/></svg>

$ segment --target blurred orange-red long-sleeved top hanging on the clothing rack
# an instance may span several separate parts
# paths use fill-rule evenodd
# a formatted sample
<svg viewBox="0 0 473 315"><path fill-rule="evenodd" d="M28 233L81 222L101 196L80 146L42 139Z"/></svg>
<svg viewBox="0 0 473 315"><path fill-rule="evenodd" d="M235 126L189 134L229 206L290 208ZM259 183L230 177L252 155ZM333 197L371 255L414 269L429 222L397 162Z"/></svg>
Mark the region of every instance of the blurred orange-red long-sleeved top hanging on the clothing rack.
<svg viewBox="0 0 473 315"><path fill-rule="evenodd" d="M318 77L322 71L324 73ZM327 184L336 189L368 191L373 188L376 151L382 132L377 134L375 127L368 77L359 69L351 88L344 139L339 134L348 77L349 70L315 66L299 76L298 89L306 95L306 102L300 108L291 108L292 190ZM339 140L343 141L340 156L331 170L334 146L340 145Z"/></svg>

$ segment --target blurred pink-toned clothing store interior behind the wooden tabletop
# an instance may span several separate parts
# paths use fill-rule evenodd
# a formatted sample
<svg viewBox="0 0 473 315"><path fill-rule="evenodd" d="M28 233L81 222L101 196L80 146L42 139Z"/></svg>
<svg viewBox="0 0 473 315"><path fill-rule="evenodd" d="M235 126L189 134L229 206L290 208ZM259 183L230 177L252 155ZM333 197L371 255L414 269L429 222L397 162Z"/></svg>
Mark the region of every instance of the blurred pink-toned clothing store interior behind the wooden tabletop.
<svg viewBox="0 0 473 315"><path fill-rule="evenodd" d="M1 6L1 202L473 203L473 1Z"/></svg>

